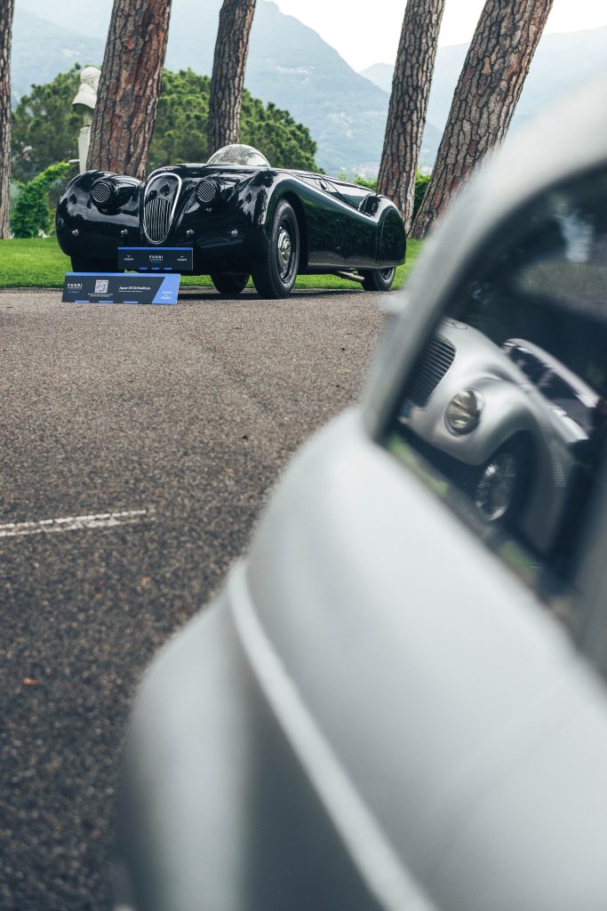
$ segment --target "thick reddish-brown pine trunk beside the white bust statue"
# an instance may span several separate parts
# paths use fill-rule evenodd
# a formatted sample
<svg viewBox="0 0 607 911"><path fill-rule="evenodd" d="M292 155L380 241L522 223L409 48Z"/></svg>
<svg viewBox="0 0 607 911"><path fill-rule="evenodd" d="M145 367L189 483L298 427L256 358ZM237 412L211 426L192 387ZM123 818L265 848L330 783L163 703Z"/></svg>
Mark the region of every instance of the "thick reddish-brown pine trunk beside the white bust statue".
<svg viewBox="0 0 607 911"><path fill-rule="evenodd" d="M114 0L87 167L147 173L171 0Z"/></svg>

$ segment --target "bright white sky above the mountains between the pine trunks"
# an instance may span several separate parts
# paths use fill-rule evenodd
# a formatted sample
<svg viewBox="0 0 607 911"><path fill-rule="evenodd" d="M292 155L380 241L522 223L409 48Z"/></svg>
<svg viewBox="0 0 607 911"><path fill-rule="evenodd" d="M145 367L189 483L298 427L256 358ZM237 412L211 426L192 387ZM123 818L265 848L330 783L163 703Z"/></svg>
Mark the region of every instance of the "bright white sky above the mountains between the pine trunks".
<svg viewBox="0 0 607 911"><path fill-rule="evenodd" d="M373 0L374 15L357 21L351 0L275 0L283 13L310 26L357 70L394 63L406 0ZM439 46L470 41L484 0L447 0ZM369 9L366 5L366 8ZM550 32L607 26L607 0L554 0L546 25Z"/></svg>

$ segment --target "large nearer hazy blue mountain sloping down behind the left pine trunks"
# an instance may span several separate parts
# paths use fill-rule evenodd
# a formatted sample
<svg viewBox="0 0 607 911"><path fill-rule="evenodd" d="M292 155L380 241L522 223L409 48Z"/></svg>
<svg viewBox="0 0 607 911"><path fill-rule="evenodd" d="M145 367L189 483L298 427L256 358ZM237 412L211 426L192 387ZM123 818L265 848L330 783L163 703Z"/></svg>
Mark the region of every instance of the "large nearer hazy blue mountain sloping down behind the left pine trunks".
<svg viewBox="0 0 607 911"><path fill-rule="evenodd" d="M13 88L15 96L60 70L98 62L112 0L16 0ZM221 0L173 0L167 68L210 74ZM46 21L43 21L46 20ZM317 161L330 174L376 173L388 94L359 76L313 29L282 14L268 0L257 5L251 30L246 85L305 124L318 143ZM431 124L424 159L440 141Z"/></svg>

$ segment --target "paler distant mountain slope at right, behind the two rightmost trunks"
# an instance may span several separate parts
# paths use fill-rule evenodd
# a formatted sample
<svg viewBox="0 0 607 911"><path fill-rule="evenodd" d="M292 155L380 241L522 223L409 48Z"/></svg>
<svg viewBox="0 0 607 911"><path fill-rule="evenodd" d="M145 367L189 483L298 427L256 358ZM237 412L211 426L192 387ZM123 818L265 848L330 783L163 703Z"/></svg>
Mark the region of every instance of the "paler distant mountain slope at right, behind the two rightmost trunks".
<svg viewBox="0 0 607 911"><path fill-rule="evenodd" d="M440 130L449 116L451 99L468 47L440 47L437 53L428 119ZM542 36L512 126L521 126L542 108L550 106L583 81L598 76L601 71L607 72L607 26L565 35ZM393 65L379 63L363 70L360 75L389 92L393 72Z"/></svg>

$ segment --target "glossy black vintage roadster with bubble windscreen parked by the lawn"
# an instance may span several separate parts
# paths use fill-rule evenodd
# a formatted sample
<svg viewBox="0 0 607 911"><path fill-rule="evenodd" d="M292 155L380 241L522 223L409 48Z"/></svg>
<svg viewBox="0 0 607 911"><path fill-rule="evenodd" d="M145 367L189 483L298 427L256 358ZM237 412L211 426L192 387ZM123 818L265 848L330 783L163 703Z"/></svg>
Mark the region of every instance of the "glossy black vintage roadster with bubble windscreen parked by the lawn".
<svg viewBox="0 0 607 911"><path fill-rule="evenodd" d="M119 247L191 247L193 269L238 294L251 275L262 297L287 297L298 272L336 273L388 291L405 258L400 213L345 180L270 168L250 146L220 148L204 164L155 170L145 182L86 171L56 212L74 271L116 271Z"/></svg>

